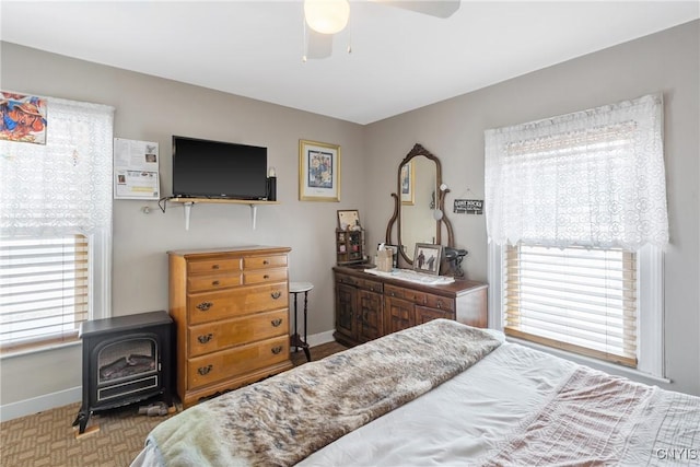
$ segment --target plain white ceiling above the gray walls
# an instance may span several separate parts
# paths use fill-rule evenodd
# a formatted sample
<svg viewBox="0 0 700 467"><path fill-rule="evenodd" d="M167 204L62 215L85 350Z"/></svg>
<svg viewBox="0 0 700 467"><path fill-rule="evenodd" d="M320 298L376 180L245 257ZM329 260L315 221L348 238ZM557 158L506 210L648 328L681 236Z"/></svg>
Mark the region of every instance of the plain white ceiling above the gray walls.
<svg viewBox="0 0 700 467"><path fill-rule="evenodd" d="M301 0L2 0L0 16L2 40L370 124L698 19L700 3L463 0L442 20L351 1L334 55L305 63Z"/></svg>

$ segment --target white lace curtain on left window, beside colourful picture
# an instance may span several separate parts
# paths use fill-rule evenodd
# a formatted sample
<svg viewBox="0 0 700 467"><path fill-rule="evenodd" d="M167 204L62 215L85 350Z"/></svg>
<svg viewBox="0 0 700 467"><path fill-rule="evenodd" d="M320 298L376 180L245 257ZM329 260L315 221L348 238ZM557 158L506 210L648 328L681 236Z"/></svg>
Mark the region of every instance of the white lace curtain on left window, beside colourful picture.
<svg viewBox="0 0 700 467"><path fill-rule="evenodd" d="M47 142L0 141L0 235L112 230L114 108L47 98Z"/></svg>

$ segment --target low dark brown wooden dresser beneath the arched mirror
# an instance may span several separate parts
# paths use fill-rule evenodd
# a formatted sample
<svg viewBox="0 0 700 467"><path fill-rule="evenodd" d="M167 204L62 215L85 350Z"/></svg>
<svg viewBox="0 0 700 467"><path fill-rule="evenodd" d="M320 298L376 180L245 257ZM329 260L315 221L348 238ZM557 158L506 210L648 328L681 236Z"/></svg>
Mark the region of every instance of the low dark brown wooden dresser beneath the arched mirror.
<svg viewBox="0 0 700 467"><path fill-rule="evenodd" d="M357 346L435 318L487 327L486 283L456 280L445 285L425 285L371 275L362 267L332 269L334 337L340 343Z"/></svg>

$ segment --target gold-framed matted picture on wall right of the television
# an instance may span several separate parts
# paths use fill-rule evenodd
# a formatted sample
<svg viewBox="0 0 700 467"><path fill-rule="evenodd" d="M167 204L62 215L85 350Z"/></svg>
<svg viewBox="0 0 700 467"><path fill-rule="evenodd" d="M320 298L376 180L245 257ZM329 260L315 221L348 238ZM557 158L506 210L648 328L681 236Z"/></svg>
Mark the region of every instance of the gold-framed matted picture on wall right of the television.
<svg viewBox="0 0 700 467"><path fill-rule="evenodd" d="M340 147L299 140L299 199L340 201Z"/></svg>

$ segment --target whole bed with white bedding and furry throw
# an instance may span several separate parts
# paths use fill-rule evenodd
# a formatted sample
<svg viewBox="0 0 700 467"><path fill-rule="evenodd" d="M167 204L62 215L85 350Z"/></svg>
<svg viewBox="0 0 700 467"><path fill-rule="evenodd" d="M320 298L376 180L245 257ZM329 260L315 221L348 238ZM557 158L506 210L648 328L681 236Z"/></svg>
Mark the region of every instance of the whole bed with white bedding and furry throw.
<svg viewBox="0 0 700 467"><path fill-rule="evenodd" d="M700 465L700 398L435 319L199 404L132 467Z"/></svg>

